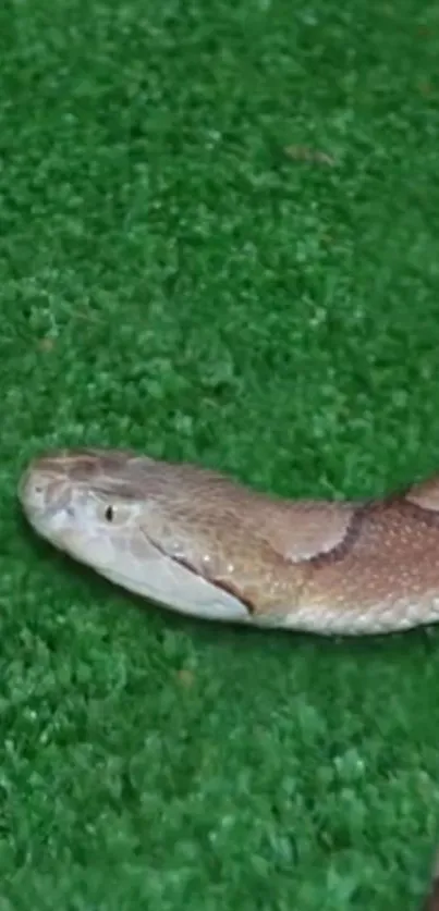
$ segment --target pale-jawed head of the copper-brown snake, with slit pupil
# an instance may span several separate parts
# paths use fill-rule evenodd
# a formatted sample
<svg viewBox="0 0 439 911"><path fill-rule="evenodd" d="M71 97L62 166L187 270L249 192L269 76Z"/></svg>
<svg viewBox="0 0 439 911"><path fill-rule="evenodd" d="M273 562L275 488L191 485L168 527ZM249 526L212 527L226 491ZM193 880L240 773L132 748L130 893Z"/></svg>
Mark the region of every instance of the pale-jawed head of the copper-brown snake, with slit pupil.
<svg viewBox="0 0 439 911"><path fill-rule="evenodd" d="M179 481L163 489L163 471L131 451L60 450L31 461L17 494L39 535L117 584L186 614L247 621L239 599L175 558L168 509Z"/></svg>

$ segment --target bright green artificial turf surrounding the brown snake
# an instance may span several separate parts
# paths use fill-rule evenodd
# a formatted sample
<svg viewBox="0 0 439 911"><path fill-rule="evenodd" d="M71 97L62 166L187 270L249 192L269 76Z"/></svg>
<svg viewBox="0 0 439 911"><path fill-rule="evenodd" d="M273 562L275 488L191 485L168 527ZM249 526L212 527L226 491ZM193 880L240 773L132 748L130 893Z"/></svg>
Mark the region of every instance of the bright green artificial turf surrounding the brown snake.
<svg viewBox="0 0 439 911"><path fill-rule="evenodd" d="M416 0L1 5L1 911L418 906L439 633L138 610L15 485L59 444L292 496L437 470L438 29Z"/></svg>

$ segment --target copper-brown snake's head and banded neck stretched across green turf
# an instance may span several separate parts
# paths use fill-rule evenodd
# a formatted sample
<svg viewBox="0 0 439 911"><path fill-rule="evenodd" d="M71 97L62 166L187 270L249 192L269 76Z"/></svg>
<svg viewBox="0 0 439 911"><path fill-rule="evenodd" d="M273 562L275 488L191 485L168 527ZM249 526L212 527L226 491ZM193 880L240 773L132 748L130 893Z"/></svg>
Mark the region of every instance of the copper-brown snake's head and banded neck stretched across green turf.
<svg viewBox="0 0 439 911"><path fill-rule="evenodd" d="M54 546L181 613L351 636L439 619L439 477L284 500L196 465L62 450L31 461L19 497Z"/></svg>

